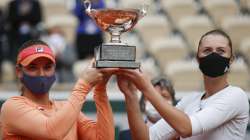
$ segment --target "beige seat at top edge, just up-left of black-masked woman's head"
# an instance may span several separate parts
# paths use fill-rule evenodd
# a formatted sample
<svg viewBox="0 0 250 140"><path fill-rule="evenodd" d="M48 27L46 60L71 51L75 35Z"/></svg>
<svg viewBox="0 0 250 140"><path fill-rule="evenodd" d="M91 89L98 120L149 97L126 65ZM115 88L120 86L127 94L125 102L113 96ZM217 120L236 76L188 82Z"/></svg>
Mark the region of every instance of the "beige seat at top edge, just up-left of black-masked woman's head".
<svg viewBox="0 0 250 140"><path fill-rule="evenodd" d="M161 0L161 4L174 24L178 23L183 17L196 15L197 13L194 0Z"/></svg>

